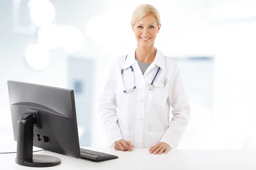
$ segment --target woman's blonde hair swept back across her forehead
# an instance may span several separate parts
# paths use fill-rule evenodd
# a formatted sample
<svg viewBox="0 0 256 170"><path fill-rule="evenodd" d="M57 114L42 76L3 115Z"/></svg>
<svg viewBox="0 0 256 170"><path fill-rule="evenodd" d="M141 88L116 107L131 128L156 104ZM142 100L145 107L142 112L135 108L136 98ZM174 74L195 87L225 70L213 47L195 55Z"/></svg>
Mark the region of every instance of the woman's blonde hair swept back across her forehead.
<svg viewBox="0 0 256 170"><path fill-rule="evenodd" d="M139 22L146 15L151 14L157 20L157 26L160 25L160 14L154 6L148 4L142 4L137 6L137 8L133 11L131 17L131 26L134 26L135 23Z"/></svg>

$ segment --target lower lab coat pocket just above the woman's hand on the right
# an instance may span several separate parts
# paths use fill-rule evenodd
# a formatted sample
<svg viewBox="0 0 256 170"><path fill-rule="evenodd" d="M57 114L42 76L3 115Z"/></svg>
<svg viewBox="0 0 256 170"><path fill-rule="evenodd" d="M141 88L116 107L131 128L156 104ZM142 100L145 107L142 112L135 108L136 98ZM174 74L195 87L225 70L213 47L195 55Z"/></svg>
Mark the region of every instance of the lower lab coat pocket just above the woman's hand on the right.
<svg viewBox="0 0 256 170"><path fill-rule="evenodd" d="M150 148L159 143L163 137L165 131L162 132L146 132L145 148Z"/></svg>

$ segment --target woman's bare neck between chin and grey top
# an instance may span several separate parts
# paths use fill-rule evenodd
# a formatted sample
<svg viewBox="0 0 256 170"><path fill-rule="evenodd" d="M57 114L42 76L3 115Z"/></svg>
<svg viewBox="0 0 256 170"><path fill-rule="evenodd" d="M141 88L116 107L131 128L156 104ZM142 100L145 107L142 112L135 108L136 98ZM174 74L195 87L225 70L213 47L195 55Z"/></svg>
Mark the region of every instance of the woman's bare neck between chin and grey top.
<svg viewBox="0 0 256 170"><path fill-rule="evenodd" d="M149 47L141 47L137 46L135 51L135 57L144 63L152 63L156 56L156 49L154 48L154 44L150 45Z"/></svg>

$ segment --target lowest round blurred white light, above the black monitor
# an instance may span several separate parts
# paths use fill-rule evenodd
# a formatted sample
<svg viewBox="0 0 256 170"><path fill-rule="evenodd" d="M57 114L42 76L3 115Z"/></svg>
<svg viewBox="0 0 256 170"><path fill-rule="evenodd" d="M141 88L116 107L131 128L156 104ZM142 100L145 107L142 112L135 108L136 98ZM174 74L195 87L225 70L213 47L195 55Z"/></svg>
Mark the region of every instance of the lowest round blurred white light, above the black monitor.
<svg viewBox="0 0 256 170"><path fill-rule="evenodd" d="M41 70L46 68L50 62L49 52L42 48L40 44L33 44L26 49L25 59L27 64L35 69Z"/></svg>

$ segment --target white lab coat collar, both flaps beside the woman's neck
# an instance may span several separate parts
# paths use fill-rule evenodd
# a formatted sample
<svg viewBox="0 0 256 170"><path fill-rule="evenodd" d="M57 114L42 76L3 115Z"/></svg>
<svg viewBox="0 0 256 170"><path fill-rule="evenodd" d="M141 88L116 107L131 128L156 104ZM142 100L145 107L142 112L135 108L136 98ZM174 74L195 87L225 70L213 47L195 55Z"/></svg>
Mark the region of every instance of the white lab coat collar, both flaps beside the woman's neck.
<svg viewBox="0 0 256 170"><path fill-rule="evenodd" d="M123 65L123 69L129 68L131 65L134 64L134 61L135 61L135 51L136 51L136 49L133 50L131 53L129 53L127 55L127 58L125 60L125 64ZM156 57L155 57L154 61L152 62L152 64L157 65L158 67L160 67L164 71L166 71L165 56L158 49L157 49Z"/></svg>

